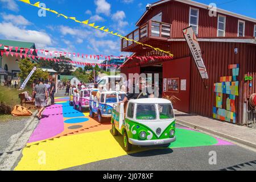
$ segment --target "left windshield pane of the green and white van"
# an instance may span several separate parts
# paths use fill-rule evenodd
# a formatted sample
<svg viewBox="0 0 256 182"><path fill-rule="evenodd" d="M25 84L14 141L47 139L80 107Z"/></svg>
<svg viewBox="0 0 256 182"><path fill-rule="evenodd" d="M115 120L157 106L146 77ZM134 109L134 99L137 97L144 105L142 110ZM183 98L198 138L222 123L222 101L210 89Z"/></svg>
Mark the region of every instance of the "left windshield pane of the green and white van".
<svg viewBox="0 0 256 182"><path fill-rule="evenodd" d="M136 118L139 120L154 120L156 119L154 104L138 104L136 111Z"/></svg>

